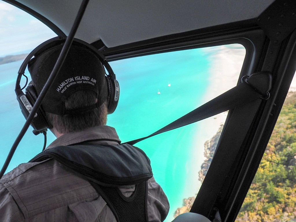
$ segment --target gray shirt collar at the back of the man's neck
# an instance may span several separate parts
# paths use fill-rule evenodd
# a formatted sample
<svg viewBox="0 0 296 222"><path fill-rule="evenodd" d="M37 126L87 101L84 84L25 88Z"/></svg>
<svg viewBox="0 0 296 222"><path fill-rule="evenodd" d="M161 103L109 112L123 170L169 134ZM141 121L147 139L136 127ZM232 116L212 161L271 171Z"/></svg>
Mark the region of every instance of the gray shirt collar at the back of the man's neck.
<svg viewBox="0 0 296 222"><path fill-rule="evenodd" d="M46 149L57 146L69 146L95 140L106 141L106 144L109 143L109 141L113 141L117 144L120 144L121 142L115 128L110 126L94 126L81 132L66 133L54 140L51 144L49 144L48 147L46 147ZM100 142L100 144L102 144L102 142Z"/></svg>

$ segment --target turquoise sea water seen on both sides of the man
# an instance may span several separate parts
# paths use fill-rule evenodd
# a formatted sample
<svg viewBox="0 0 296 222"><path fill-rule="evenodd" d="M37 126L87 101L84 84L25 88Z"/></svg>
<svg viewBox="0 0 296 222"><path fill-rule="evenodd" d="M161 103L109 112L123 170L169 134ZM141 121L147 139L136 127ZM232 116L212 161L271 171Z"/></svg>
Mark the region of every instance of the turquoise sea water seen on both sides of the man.
<svg viewBox="0 0 296 222"><path fill-rule="evenodd" d="M0 65L4 100L0 109L1 166L25 123L14 93L21 63ZM110 65L120 83L120 100L107 124L116 128L123 142L147 136L200 106L208 86L209 61L202 49L124 59ZM7 172L41 152L43 136L31 131L22 139ZM198 131L198 124L192 124L136 144L147 153L155 179L168 196L170 213L166 221L173 219L184 198L198 192L193 178L198 177L200 165L195 160L204 152L194 149ZM54 139L49 132L47 144Z"/></svg>

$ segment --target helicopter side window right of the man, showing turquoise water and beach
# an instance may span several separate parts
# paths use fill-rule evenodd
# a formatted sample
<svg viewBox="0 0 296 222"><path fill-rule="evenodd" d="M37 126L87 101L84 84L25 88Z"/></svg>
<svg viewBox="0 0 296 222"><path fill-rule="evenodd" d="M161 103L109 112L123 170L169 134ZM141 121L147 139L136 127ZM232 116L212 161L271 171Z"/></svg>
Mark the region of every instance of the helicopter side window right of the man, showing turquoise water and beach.
<svg viewBox="0 0 296 222"><path fill-rule="evenodd" d="M245 53L242 45L230 44L110 62L120 102L107 124L123 142L157 131L236 86ZM224 112L136 144L147 153L168 196L166 221L190 210L186 205L207 173L226 116Z"/></svg>

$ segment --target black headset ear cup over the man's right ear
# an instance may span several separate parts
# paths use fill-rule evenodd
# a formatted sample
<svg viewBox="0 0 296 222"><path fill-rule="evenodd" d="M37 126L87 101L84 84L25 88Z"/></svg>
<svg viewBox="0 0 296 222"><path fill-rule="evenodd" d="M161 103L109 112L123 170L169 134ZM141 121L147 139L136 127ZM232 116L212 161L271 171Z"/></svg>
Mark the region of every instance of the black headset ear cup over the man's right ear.
<svg viewBox="0 0 296 222"><path fill-rule="evenodd" d="M119 100L119 83L116 79L106 76L108 87L108 114L115 111Z"/></svg>

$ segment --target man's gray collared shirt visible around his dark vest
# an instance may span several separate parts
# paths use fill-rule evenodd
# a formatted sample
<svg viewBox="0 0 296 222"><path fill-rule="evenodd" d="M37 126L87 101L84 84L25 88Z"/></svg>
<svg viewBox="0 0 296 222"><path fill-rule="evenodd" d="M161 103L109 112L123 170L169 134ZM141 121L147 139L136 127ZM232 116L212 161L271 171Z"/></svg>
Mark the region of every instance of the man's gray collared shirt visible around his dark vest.
<svg viewBox="0 0 296 222"><path fill-rule="evenodd" d="M82 132L67 133L46 149L72 144L112 144L120 140L114 128L96 126ZM131 196L134 185L120 191ZM163 221L168 214L168 199L152 177L148 180L148 220ZM77 173L54 159L23 163L0 181L1 221L116 221L106 202Z"/></svg>

